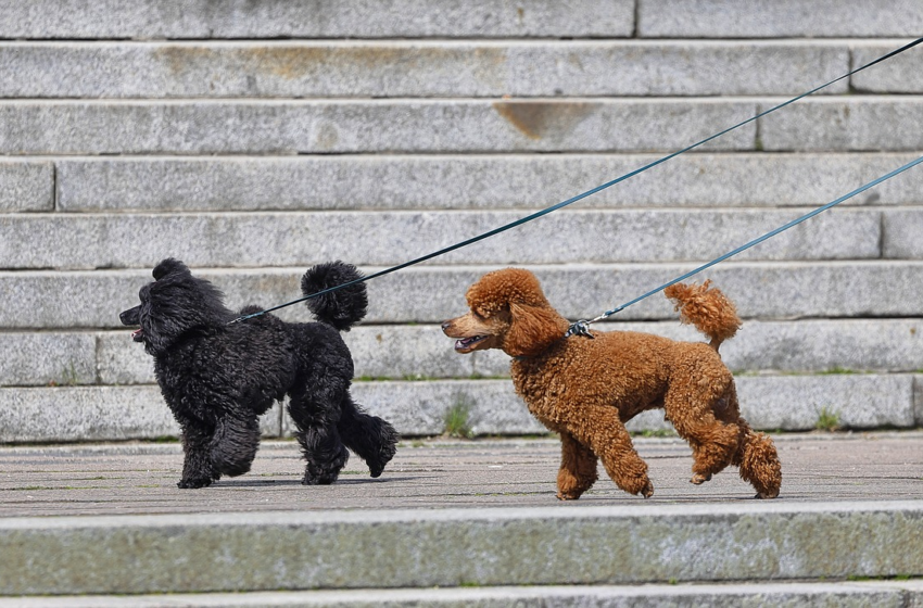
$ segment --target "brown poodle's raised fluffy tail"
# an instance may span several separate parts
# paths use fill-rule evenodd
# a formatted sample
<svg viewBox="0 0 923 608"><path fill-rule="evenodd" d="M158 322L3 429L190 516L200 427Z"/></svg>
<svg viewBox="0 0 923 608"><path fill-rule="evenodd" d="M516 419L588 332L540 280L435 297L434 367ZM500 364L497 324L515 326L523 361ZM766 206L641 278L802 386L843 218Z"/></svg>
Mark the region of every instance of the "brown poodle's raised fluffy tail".
<svg viewBox="0 0 923 608"><path fill-rule="evenodd" d="M675 302L680 320L694 325L711 340L711 347L718 351L722 342L733 338L741 329L741 318L734 303L710 284L711 281L700 286L677 283L668 287L663 294Z"/></svg>

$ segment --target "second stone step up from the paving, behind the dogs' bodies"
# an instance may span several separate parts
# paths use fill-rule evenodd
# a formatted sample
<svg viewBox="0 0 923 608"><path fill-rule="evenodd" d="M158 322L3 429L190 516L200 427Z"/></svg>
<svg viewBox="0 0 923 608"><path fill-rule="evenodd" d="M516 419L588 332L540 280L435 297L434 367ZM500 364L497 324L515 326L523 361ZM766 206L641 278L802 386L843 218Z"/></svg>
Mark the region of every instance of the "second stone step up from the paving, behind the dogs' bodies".
<svg viewBox="0 0 923 608"><path fill-rule="evenodd" d="M643 331L700 342L677 320L607 322L603 331ZM151 357L118 331L8 331L0 339L0 385L152 384ZM458 355L437 325L361 325L343 338L359 379L431 380L506 377L500 351ZM923 371L923 319L748 320L721 357L735 373Z"/></svg>

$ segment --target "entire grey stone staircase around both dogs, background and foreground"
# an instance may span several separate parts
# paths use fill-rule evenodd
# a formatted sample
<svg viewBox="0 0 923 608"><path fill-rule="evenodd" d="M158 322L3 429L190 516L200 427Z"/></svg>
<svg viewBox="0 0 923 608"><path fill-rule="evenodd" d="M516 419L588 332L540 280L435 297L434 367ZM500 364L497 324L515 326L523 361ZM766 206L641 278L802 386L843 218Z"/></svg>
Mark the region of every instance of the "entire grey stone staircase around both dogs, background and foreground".
<svg viewBox="0 0 923 608"><path fill-rule="evenodd" d="M0 443L176 436L149 357L118 324L165 256L231 306L287 302L312 264L375 271L470 238L921 35L920 0L0 0ZM631 300L916 157L921 65L916 48L369 282L369 316L346 334L357 401L408 436L442 433L450 410L475 434L543 432L505 356L458 356L439 329L472 281L527 266L572 319ZM745 318L722 355L754 426L923 423L921 233L916 168L703 277ZM282 316L307 319L299 306ZM661 296L607 327L698 339ZM263 423L288 432L281 407ZM268 456L301 466L296 448L277 443L258 465L287 514L256 504L271 478L175 490L157 460L178 461L172 443L7 448L0 502L28 517L0 518L0 608L923 605L923 505L897 501L919 483L911 457L865 471L874 497L855 502L815 496L837 499L875 455L854 448L846 470L835 460L812 478L806 448L786 483L818 487L769 503L514 495L503 508L311 510ZM390 471L372 492L346 479L312 504L382 499L415 479L434 501L455 491L430 472L446 463L491 479L486 460L432 463L422 444L399 458L412 448L422 464L403 481ZM656 457L661 474L680 468ZM673 486L688 486L684 467ZM552 479L533 484L549 505ZM33 484L53 486L54 514L35 510ZM38 517L104 505L105 484L154 506Z"/></svg>

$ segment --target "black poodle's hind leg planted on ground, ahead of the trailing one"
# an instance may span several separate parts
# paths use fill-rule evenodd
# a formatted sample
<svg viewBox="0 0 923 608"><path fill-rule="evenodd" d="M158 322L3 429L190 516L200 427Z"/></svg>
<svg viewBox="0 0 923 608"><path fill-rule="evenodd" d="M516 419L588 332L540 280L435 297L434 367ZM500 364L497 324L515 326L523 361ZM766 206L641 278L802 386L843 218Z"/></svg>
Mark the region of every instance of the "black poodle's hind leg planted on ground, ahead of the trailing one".
<svg viewBox="0 0 923 608"><path fill-rule="evenodd" d="M350 453L337 431L339 407L318 394L292 395L289 415L298 427L295 439L301 444L307 465L302 483L326 485L337 481Z"/></svg>

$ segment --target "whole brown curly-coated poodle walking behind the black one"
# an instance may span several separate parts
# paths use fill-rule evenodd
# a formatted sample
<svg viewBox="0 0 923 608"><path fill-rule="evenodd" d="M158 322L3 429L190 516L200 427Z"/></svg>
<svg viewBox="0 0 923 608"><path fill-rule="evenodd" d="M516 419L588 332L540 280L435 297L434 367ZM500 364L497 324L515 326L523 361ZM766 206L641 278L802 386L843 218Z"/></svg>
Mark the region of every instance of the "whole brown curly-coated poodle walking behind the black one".
<svg viewBox="0 0 923 608"><path fill-rule="evenodd" d="M565 338L570 322L552 308L532 273L490 273L466 295L470 312L442 324L455 350L500 349L513 356L516 392L545 427L560 434L558 498L576 499L596 481L596 459L631 494L654 493L647 465L631 443L625 422L645 409L665 417L693 449L692 483L728 465L759 498L774 498L782 467L772 440L741 417L731 371L718 347L741 327L734 305L717 289L674 284L683 322L709 344L675 342L633 331L592 331Z"/></svg>

